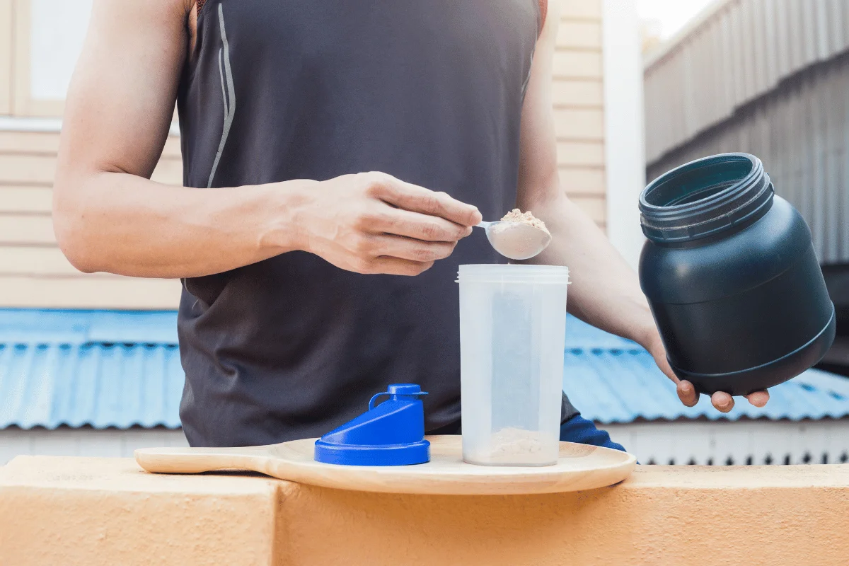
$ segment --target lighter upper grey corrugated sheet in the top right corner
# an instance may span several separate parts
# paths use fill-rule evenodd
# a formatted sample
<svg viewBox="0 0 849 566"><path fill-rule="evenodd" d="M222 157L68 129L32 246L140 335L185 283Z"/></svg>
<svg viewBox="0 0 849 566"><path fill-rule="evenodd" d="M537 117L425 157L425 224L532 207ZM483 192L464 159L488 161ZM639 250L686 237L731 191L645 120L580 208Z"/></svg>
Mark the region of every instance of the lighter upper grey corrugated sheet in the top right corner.
<svg viewBox="0 0 849 566"><path fill-rule="evenodd" d="M646 160L847 49L849 0L717 0L646 62Z"/></svg>

